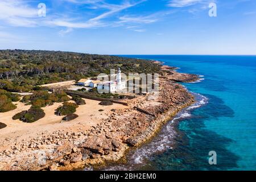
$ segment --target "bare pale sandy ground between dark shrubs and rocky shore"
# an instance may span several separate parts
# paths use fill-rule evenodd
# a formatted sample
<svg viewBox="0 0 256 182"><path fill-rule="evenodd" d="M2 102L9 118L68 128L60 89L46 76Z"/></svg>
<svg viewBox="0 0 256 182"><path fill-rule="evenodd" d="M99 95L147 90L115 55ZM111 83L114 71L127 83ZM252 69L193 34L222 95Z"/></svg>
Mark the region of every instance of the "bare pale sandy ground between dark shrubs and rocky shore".
<svg viewBox="0 0 256 182"><path fill-rule="evenodd" d="M10 145L39 137L42 133L52 133L53 131L81 131L88 130L92 126L96 126L101 122L101 119L107 118L112 109L125 109L127 106L114 104L112 106L101 106L99 101L84 99L86 105L81 105L76 109L78 118L69 122L61 122L63 116L54 114L55 109L62 103L55 103L52 106L43 107L46 116L34 123L24 123L19 120L13 120L12 117L16 113L30 109L30 106L25 106L21 102L14 102L17 109L0 113L0 122L5 123L7 127L0 129L0 151L9 149ZM103 109L104 111L98 111Z"/></svg>

